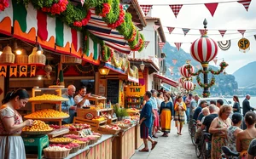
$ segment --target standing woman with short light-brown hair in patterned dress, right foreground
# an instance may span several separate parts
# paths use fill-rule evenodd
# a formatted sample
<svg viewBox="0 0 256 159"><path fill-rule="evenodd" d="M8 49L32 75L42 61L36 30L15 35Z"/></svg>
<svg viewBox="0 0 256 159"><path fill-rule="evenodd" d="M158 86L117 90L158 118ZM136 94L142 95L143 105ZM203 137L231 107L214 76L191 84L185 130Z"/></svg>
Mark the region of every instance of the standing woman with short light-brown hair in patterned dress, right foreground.
<svg viewBox="0 0 256 159"><path fill-rule="evenodd" d="M212 133L212 148L211 158L221 158L221 147L227 145L227 128L231 126L229 118L232 112L230 105L222 105L218 111L218 117L213 119L209 128L209 133Z"/></svg>

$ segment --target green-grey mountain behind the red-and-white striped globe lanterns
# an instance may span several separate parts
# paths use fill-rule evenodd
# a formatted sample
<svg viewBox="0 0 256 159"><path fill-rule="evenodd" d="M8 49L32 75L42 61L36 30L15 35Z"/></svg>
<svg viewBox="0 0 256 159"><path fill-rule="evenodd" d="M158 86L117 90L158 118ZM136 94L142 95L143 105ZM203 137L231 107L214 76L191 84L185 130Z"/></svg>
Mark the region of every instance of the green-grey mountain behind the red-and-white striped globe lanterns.
<svg viewBox="0 0 256 159"><path fill-rule="evenodd" d="M177 79L179 77L181 77L179 75L179 71L178 71L178 67L183 66L186 63L186 60L191 60L190 64L194 65L194 67L196 65L201 65L199 62L195 61L192 56L189 53L186 53L183 51L183 49L179 49L179 51L177 51L176 47L172 47L170 43L166 43L166 45L164 46L163 50L162 50L165 54L166 54L166 67L169 68L170 66L173 66L173 75L171 75L171 72L167 69L166 70L166 77L169 77L175 81L177 81ZM177 60L176 65L174 65L172 63L172 60ZM212 70L217 71L218 68L210 65L210 67L212 68ZM197 68L195 68L195 71L198 71ZM202 74L200 75L200 77L202 77ZM209 81L211 80L212 74L209 73L208 74L208 79ZM237 86L237 82L236 82L236 78L233 75L224 75L224 73L221 73L219 75L214 75L215 77L215 85L212 86L211 88L211 94L212 95L233 95L235 94L235 91L237 90L238 86ZM195 77L193 77L193 82L196 83L196 89L195 92L197 94L202 94L202 90L203 88L200 88L200 86L198 86ZM201 78L201 82L203 82L203 79Z"/></svg>

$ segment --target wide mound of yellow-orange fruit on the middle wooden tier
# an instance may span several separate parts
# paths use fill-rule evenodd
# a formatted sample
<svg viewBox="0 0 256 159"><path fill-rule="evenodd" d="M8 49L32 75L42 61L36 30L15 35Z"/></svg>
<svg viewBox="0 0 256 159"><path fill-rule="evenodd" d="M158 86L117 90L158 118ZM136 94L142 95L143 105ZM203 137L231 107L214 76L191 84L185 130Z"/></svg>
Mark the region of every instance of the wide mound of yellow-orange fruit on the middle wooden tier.
<svg viewBox="0 0 256 159"><path fill-rule="evenodd" d="M44 109L33 112L32 114L26 115L25 118L65 118L69 115L62 111L55 111L51 109Z"/></svg>

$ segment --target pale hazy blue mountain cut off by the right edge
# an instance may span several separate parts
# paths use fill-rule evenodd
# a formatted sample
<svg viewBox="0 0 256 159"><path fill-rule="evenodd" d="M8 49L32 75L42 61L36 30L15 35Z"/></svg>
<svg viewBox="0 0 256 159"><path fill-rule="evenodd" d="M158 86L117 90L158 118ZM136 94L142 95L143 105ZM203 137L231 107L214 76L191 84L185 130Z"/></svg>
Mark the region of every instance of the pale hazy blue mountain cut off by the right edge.
<svg viewBox="0 0 256 159"><path fill-rule="evenodd" d="M241 88L256 88L256 75L253 73L256 68L256 61L251 62L233 73L238 86Z"/></svg>

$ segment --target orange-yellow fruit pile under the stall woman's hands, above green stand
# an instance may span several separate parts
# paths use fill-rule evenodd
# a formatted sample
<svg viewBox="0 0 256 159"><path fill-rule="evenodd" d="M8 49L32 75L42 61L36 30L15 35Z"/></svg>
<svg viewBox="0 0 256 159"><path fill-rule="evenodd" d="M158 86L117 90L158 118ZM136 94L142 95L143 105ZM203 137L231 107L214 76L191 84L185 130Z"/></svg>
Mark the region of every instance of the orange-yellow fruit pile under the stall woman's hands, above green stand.
<svg viewBox="0 0 256 159"><path fill-rule="evenodd" d="M31 127L24 127L22 131L26 132L40 132L40 131L51 131L53 128L50 128L48 124L43 121L34 120L33 125Z"/></svg>

